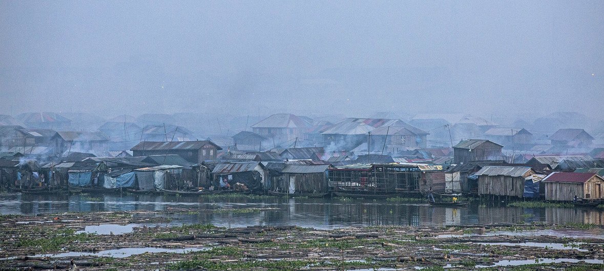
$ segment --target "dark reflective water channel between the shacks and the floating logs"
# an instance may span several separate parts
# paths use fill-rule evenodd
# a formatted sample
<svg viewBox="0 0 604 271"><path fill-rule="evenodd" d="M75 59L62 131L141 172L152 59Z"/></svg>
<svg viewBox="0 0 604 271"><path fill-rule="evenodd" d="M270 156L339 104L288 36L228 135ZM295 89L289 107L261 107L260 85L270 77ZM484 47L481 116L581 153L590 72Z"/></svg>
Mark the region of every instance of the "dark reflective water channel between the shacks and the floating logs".
<svg viewBox="0 0 604 271"><path fill-rule="evenodd" d="M215 209L275 208L250 213L216 213ZM320 229L351 226L440 226L484 223L544 222L604 225L604 213L582 208L432 207L385 200L315 198L208 199L170 195L6 195L1 214L46 214L87 211L191 210L174 215L178 223L218 226L298 225ZM114 234L118 234L114 231ZM522 233L521 233L522 234ZM604 232L595 232L602 235ZM590 234L593 237L594 234ZM565 234L566 235L566 234Z"/></svg>

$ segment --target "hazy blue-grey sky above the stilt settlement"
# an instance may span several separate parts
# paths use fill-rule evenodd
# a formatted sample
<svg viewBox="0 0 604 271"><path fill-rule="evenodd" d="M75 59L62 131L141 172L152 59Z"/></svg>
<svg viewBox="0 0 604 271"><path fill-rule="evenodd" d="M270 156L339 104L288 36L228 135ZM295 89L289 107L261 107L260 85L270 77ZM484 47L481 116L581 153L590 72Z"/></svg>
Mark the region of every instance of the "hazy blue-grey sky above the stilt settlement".
<svg viewBox="0 0 604 271"><path fill-rule="evenodd" d="M604 1L0 1L0 113L601 117Z"/></svg>

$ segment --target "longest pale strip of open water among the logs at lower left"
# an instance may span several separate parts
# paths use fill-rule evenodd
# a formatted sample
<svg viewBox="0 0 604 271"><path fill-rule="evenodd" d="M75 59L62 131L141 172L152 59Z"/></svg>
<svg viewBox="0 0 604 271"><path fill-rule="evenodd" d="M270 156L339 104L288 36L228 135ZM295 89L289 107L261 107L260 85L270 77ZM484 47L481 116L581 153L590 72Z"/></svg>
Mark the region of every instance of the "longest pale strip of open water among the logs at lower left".
<svg viewBox="0 0 604 271"><path fill-rule="evenodd" d="M184 248L184 249L165 249L165 248L123 248L123 249L109 249L106 251L98 252L63 252L59 254L38 254L33 257L83 257L83 256L95 256L95 257L114 257L114 258L126 258L132 255L149 253L188 253L194 251L207 251L208 248Z"/></svg>

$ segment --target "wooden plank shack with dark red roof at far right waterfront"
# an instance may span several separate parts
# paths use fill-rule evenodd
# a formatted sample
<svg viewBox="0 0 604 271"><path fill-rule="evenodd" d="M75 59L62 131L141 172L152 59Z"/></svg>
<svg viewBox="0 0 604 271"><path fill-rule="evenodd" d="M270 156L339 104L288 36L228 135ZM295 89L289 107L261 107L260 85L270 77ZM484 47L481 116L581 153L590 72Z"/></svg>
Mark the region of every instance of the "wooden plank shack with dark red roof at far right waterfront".
<svg viewBox="0 0 604 271"><path fill-rule="evenodd" d="M542 180L547 201L573 201L601 199L604 195L604 179L593 172L553 172Z"/></svg>

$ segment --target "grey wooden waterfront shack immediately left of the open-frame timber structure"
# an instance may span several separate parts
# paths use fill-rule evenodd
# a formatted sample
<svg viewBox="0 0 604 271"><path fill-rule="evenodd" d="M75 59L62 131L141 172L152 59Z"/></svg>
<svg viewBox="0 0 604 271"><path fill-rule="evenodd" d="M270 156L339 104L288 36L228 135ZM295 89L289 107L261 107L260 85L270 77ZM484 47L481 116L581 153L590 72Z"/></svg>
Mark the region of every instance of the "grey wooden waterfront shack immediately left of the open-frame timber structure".
<svg viewBox="0 0 604 271"><path fill-rule="evenodd" d="M329 192L329 164L288 164L273 178L271 190L288 194Z"/></svg>

